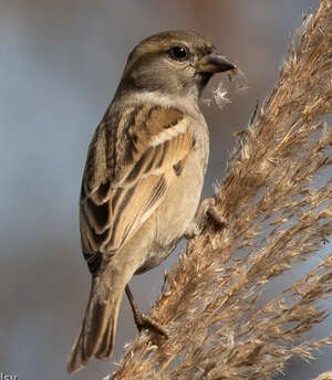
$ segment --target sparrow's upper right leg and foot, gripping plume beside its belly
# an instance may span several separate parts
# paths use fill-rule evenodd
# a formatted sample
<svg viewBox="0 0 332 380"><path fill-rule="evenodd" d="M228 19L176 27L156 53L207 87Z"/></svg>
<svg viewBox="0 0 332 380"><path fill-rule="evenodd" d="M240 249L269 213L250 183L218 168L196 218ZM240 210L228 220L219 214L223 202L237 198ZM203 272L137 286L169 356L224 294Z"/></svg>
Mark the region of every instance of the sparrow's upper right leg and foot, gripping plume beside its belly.
<svg viewBox="0 0 332 380"><path fill-rule="evenodd" d="M193 239L198 234L199 226L203 222L203 219L207 214L210 215L215 220L215 222L217 224L219 224L220 226L224 226L227 224L226 219L216 209L215 198L212 198L212 197L206 198L200 202L200 204L196 211L196 215L194 218L194 221L188 225L188 228L185 232L186 239Z"/></svg>

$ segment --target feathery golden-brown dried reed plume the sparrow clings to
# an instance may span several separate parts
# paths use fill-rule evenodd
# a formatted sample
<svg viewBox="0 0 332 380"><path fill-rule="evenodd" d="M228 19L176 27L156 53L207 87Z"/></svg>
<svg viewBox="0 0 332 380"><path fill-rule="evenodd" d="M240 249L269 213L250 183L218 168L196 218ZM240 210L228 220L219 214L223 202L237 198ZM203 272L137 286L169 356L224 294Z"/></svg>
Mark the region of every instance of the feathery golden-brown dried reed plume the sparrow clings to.
<svg viewBox="0 0 332 380"><path fill-rule="evenodd" d="M262 297L332 234L332 128L322 119L332 112L331 20L331 0L304 17L279 83L242 134L217 196L228 224L207 220L165 277L152 316L169 339L143 332L111 378L263 379L331 342L298 338L325 316L318 300L332 291L332 253Z"/></svg>

